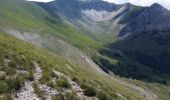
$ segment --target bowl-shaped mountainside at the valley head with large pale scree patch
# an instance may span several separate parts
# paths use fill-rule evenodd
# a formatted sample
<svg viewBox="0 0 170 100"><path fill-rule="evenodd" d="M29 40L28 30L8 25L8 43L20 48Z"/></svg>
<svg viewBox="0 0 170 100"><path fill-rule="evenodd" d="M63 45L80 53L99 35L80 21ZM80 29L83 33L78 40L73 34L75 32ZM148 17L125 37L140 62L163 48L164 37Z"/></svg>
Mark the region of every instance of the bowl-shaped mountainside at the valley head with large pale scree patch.
<svg viewBox="0 0 170 100"><path fill-rule="evenodd" d="M67 23L74 25L79 31L102 44L115 41L117 37L115 34L125 24L120 23L126 20L125 16L132 17L142 11L142 7L129 3L117 5L102 0L56 0L49 3L37 2L36 4L49 14L60 16Z"/></svg>

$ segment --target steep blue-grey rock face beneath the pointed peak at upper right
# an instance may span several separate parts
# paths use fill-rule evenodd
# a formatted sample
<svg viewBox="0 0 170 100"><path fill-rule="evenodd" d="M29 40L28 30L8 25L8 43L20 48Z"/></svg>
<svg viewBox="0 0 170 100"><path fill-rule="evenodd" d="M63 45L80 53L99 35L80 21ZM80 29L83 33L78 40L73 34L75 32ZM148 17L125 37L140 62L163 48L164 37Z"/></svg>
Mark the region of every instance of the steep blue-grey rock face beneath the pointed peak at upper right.
<svg viewBox="0 0 170 100"><path fill-rule="evenodd" d="M170 11L159 4L153 4L145 8L136 16L126 27L124 27L119 36L128 33L140 33L142 31L169 31L170 30Z"/></svg>

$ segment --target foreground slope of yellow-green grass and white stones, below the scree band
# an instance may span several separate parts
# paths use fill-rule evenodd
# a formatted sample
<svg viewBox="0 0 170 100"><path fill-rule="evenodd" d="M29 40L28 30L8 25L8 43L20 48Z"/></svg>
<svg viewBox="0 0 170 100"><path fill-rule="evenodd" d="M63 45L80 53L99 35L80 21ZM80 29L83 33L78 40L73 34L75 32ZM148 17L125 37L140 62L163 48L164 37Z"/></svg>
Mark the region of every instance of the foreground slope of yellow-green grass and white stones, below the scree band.
<svg viewBox="0 0 170 100"><path fill-rule="evenodd" d="M0 99L2 100L28 98L121 99L122 97L116 96L116 91L130 99L142 100L143 98L94 68L68 62L47 50L3 32L0 34L0 45ZM84 94L83 90L87 92ZM135 97L131 97L132 94Z"/></svg>

